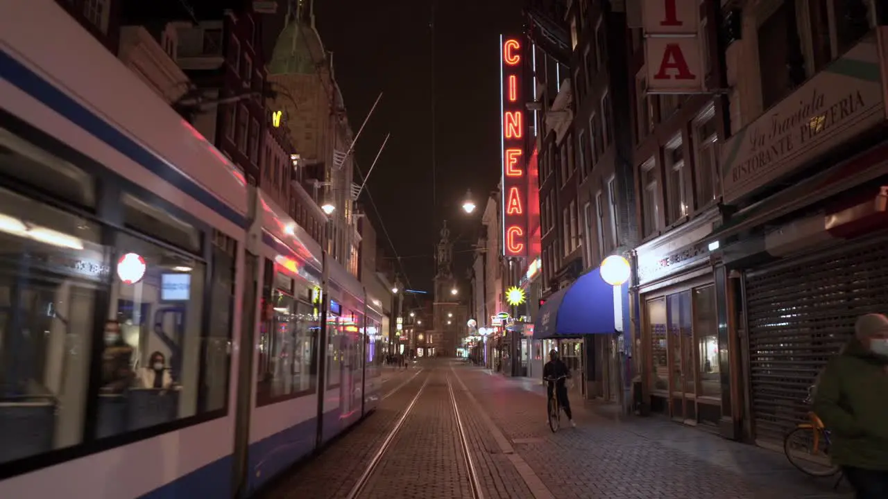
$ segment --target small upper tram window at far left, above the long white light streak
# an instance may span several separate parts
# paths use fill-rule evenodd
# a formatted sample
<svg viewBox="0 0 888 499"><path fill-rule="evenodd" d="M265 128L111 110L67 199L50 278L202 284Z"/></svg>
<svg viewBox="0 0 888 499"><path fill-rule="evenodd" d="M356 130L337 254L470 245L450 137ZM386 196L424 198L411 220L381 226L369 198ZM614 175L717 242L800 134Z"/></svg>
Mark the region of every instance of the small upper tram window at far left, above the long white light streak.
<svg viewBox="0 0 888 499"><path fill-rule="evenodd" d="M0 170L57 199L95 206L94 183L88 173L4 128L0 128Z"/></svg>

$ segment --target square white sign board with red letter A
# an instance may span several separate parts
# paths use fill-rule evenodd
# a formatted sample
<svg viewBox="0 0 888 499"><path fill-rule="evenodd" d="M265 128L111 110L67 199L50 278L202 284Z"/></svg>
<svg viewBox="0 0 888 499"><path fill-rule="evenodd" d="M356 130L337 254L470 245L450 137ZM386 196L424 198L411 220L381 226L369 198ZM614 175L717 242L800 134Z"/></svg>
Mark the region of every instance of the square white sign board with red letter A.
<svg viewBox="0 0 888 499"><path fill-rule="evenodd" d="M655 37L645 42L647 93L703 91L706 71L697 37Z"/></svg>

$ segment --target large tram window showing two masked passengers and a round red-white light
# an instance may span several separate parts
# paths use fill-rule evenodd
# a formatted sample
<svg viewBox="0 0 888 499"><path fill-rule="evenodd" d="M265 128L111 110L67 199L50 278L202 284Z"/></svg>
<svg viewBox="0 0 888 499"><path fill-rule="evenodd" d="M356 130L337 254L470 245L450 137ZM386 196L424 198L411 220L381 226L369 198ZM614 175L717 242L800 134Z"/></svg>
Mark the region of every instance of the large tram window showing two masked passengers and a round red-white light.
<svg viewBox="0 0 888 499"><path fill-rule="evenodd" d="M115 246L99 438L203 412L210 384L227 378L227 362L205 360L213 347L202 328L206 265L129 234L117 234Z"/></svg>

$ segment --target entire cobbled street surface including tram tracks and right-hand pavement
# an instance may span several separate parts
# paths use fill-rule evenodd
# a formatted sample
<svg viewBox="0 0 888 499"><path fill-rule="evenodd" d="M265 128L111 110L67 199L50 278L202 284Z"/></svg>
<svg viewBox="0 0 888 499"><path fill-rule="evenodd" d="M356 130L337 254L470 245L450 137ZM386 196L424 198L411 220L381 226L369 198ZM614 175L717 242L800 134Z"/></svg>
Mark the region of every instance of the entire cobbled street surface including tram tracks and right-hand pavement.
<svg viewBox="0 0 888 499"><path fill-rule="evenodd" d="M543 387L527 378L447 360L385 376L388 396L377 412L289 472L266 497L349 497L408 408L357 496L473 497L451 389L485 498L849 496L846 487L832 489L835 479L808 478L781 454L657 418L607 416L607 408L579 400L573 400L578 427L552 433Z"/></svg>

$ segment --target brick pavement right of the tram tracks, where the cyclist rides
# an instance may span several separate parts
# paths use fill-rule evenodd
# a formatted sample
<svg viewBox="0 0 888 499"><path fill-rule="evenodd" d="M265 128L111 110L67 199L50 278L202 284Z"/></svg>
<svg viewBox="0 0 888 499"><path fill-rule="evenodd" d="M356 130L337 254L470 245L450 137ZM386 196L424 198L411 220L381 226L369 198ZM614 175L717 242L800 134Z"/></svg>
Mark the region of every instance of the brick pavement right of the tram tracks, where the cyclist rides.
<svg viewBox="0 0 888 499"><path fill-rule="evenodd" d="M782 455L656 418L606 418L573 400L577 429L551 433L543 387L456 368L475 399L556 497L836 498Z"/></svg>

